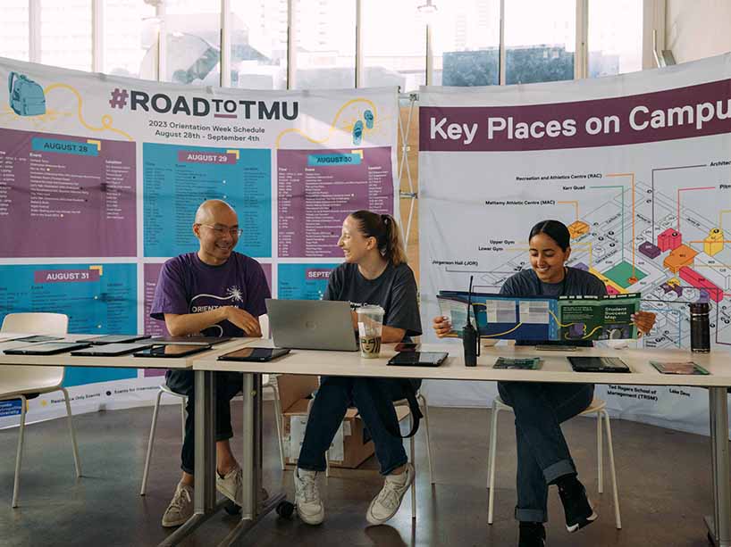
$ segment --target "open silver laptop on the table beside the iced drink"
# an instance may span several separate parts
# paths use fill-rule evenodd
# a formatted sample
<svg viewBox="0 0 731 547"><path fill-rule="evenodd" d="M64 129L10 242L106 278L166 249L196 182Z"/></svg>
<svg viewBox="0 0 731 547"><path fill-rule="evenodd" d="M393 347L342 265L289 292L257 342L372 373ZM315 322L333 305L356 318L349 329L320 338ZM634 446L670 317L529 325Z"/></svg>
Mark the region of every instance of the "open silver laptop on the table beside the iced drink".
<svg viewBox="0 0 731 547"><path fill-rule="evenodd" d="M347 302L267 298L266 312L277 347L339 352L358 349Z"/></svg>

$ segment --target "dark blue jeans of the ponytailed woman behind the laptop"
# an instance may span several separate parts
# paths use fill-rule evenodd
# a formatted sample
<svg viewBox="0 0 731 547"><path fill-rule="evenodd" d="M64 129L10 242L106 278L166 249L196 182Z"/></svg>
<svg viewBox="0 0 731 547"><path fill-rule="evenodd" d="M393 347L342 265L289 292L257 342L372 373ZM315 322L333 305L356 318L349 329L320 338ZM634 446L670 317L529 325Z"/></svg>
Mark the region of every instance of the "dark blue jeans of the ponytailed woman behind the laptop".
<svg viewBox="0 0 731 547"><path fill-rule="evenodd" d="M374 390L378 390L379 396L374 397ZM357 407L360 418L373 438L375 455L381 464L381 475L388 475L393 469L401 467L408 461L404 444L399 437L391 435L387 427L399 429L399 419L391 402L404 397L397 380L323 377L307 419L305 440L299 451L297 467L310 471L325 470L325 452L330 449L332 439L350 406ZM383 419L388 419L391 426L384 425Z"/></svg>

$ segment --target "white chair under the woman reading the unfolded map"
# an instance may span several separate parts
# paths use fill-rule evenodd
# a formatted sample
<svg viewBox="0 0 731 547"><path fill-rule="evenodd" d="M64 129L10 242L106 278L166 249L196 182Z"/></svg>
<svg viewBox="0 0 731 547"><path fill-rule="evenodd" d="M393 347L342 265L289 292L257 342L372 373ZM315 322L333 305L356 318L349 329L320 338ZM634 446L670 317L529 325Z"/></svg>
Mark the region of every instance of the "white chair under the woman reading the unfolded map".
<svg viewBox="0 0 731 547"><path fill-rule="evenodd" d="M612 434L611 425L609 424L609 413L606 410L607 403L601 401L601 399L594 398L589 408L579 414L579 416L586 416L589 414L596 414L596 450L597 450L597 478L599 483L599 493L604 492L604 466L602 458L602 438L601 438L601 419L604 418L604 423L607 427L607 446L609 448L609 468L612 476L612 491L614 494L614 517L616 520L617 529L622 528L622 518L619 515L619 494L617 487L617 472L614 468L614 448L612 446ZM500 397L495 397L492 401L492 427L490 428L490 455L488 458L488 479L487 487L490 489L490 498L487 504L487 524L492 524L492 511L495 499L495 455L498 452L498 414L501 410L507 410L512 412L512 407L502 402Z"/></svg>

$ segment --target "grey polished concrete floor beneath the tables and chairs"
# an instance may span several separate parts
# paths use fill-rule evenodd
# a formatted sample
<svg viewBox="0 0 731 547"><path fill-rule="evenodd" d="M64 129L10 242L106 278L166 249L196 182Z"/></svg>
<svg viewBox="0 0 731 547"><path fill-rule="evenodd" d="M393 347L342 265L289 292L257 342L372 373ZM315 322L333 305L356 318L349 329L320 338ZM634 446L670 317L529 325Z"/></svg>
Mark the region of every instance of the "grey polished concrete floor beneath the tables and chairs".
<svg viewBox="0 0 731 547"><path fill-rule="evenodd" d="M271 403L265 403L265 486L283 488L293 497L291 472L278 467ZM235 431L240 402L234 402ZM0 547L84 545L86 547L156 545L169 531L160 526L179 471L180 410L160 413L147 496L139 485L147 448L151 408L86 414L75 419L83 477L74 477L71 443L65 421L29 426L21 471L21 506L13 510L13 463L17 429L0 431ZM410 497L388 526L366 526L368 503L382 479L372 458L362 468L333 471L321 492L326 519L307 526L297 518L272 513L238 544L257 547L297 545L500 545L517 544L515 440L512 417L500 414L495 523L487 525L487 444L490 411L430 410L436 485L429 485L424 435L417 434L417 519L412 523ZM622 530L615 528L609 484L597 493L595 421L570 420L564 427L580 477L600 515L592 526L568 535L555 490L550 492L548 545L706 547L702 515L712 510L710 449L706 437L613 420L622 510ZM233 447L240 451L240 435ZM606 455L606 451L605 451ZM186 546L215 545L235 526L225 513L211 518Z"/></svg>

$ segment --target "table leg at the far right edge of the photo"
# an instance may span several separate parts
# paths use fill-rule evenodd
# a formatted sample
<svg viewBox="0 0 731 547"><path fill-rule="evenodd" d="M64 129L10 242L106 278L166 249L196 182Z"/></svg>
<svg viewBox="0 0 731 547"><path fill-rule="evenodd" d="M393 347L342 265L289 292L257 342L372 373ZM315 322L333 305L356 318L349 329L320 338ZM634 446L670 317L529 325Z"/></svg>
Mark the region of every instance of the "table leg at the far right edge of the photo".
<svg viewBox="0 0 731 547"><path fill-rule="evenodd" d="M731 547L731 464L728 460L728 404L726 387L709 388L712 517L706 517L709 539L716 547Z"/></svg>

